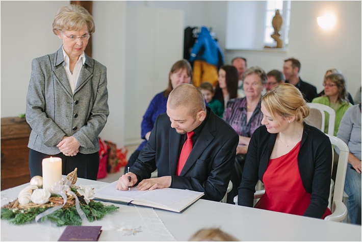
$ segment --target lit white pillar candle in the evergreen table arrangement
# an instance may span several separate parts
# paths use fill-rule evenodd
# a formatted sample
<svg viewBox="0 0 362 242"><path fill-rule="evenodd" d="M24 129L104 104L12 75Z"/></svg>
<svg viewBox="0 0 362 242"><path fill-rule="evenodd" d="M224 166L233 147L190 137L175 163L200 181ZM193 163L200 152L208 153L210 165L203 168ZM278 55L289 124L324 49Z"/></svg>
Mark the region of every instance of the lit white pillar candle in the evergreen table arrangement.
<svg viewBox="0 0 362 242"><path fill-rule="evenodd" d="M51 192L51 186L54 186L62 179L62 159L59 157L50 157L43 159L43 188Z"/></svg>

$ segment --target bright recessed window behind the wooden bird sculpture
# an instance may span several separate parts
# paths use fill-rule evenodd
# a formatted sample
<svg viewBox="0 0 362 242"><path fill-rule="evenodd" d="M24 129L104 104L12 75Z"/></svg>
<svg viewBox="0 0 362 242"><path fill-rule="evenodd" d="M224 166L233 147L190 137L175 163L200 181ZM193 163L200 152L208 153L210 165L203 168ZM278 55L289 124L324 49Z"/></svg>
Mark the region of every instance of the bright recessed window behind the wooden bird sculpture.
<svg viewBox="0 0 362 242"><path fill-rule="evenodd" d="M226 45L229 50L260 50L275 46L270 37L274 33L272 19L275 11L283 18L280 38L283 48L289 43L291 1L228 1Z"/></svg>

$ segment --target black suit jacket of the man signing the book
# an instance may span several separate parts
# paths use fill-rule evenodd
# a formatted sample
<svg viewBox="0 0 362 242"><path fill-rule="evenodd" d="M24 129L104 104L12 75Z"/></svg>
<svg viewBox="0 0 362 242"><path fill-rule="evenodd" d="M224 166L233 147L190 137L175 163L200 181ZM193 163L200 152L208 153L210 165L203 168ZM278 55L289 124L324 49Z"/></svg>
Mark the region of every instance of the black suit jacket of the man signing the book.
<svg viewBox="0 0 362 242"><path fill-rule="evenodd" d="M171 128L166 113L158 116L147 144L131 167L138 182L150 178L157 168L158 177L171 176L172 188L202 191L205 193L203 199L213 201L224 197L234 167L239 136L209 107L206 110L209 117L180 176L175 174L184 135Z"/></svg>

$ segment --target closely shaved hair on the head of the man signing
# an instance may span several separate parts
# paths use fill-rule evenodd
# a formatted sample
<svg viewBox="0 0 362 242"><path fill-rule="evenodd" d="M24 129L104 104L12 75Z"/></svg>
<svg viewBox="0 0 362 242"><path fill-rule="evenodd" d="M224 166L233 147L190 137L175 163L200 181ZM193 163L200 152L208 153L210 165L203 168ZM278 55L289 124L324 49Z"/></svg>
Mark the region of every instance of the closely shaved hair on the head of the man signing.
<svg viewBox="0 0 362 242"><path fill-rule="evenodd" d="M186 107L190 115L206 110L201 91L192 84L181 84L173 89L168 96L167 105L172 109Z"/></svg>

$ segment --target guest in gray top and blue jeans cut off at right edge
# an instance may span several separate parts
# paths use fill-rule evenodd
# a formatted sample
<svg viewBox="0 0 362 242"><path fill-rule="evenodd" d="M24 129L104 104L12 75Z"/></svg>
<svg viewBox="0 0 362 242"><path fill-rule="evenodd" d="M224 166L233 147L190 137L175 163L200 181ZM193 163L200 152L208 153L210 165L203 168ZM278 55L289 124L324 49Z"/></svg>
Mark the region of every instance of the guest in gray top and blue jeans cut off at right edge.
<svg viewBox="0 0 362 242"><path fill-rule="evenodd" d="M344 190L351 224L361 225L361 104L343 115L337 137L348 146L349 156ZM337 151L337 153L339 153Z"/></svg>

